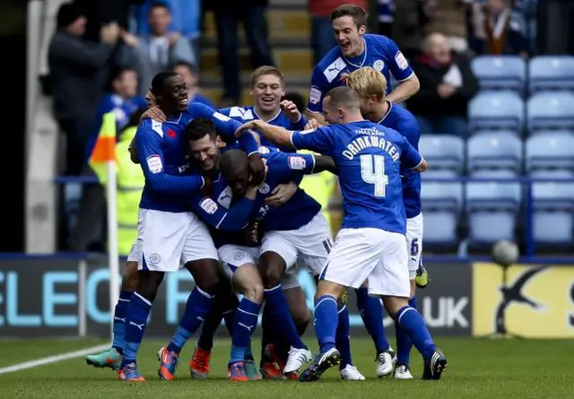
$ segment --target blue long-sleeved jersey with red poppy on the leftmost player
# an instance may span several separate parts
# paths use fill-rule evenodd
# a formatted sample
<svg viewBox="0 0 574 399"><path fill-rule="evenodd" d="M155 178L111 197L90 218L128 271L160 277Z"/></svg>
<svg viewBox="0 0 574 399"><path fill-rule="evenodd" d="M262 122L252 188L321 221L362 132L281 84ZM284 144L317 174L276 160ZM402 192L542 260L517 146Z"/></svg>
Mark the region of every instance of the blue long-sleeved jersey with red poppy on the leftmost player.
<svg viewBox="0 0 574 399"><path fill-rule="evenodd" d="M145 176L140 208L176 213L189 210L187 195L204 184L203 178L187 170L184 132L195 117L212 119L217 131L230 141L240 126L239 122L200 103L192 103L177 118L164 123L144 119L135 134L135 147ZM247 141L240 139L246 152L257 152L253 136L243 136L248 137Z"/></svg>

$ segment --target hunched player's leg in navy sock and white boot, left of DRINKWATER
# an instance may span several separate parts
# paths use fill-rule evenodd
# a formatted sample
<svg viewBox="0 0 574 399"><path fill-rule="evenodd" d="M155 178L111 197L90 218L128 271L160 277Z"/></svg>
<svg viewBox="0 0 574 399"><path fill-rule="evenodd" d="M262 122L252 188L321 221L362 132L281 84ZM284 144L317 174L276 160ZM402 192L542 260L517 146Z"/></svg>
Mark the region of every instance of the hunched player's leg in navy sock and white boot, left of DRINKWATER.
<svg viewBox="0 0 574 399"><path fill-rule="evenodd" d="M278 330L282 339L291 346L289 358L283 369L284 373L294 372L311 359L311 352L300 338L293 322L289 305L283 293L281 281L287 267L297 261L297 250L292 243L283 238L282 232L269 231L261 244L259 273L263 278L266 307L274 325L281 325Z"/></svg>

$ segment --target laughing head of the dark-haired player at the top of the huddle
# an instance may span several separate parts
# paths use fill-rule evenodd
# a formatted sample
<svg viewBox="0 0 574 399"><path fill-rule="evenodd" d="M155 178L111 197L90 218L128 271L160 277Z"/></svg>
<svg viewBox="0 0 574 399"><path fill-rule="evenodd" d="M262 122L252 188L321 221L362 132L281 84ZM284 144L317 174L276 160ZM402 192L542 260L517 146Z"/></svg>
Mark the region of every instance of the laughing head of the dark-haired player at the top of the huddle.
<svg viewBox="0 0 574 399"><path fill-rule="evenodd" d="M358 5L343 4L331 13L331 27L344 56L359 56L362 35L367 31L367 13Z"/></svg>

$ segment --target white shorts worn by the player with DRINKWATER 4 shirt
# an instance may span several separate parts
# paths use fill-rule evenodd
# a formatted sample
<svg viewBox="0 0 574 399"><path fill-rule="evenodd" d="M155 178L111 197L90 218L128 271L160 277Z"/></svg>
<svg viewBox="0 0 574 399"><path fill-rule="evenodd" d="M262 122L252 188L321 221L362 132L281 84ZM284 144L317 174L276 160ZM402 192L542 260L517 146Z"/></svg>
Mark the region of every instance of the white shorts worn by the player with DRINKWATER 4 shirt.
<svg viewBox="0 0 574 399"><path fill-rule="evenodd" d="M369 294L409 298L408 252L403 234L380 229L341 229L320 279Z"/></svg>

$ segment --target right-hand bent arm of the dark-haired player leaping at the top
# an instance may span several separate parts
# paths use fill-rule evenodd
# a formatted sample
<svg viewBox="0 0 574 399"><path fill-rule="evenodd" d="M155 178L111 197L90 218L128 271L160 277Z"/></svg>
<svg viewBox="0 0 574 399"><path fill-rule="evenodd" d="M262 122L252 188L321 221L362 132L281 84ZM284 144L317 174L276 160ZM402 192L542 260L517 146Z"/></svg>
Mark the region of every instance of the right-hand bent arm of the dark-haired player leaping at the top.
<svg viewBox="0 0 574 399"><path fill-rule="evenodd" d="M390 69L391 74L393 74L399 82L395 90L387 96L387 100L394 103L403 102L413 97L413 95L419 91L421 82L419 82L419 78L414 74L413 68L411 68L411 65L409 65L403 53L396 47L396 43L391 39L387 40L387 56L390 60L388 69Z"/></svg>

